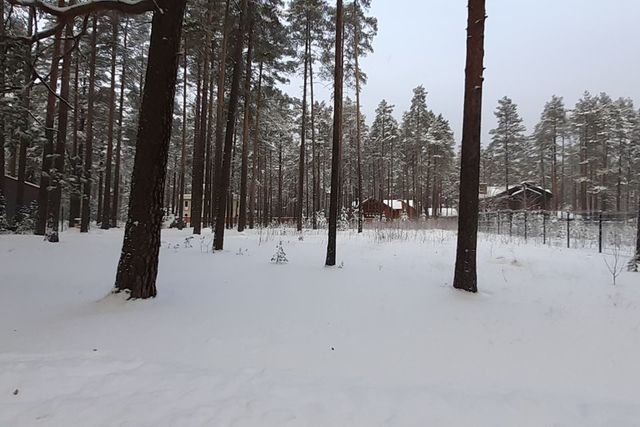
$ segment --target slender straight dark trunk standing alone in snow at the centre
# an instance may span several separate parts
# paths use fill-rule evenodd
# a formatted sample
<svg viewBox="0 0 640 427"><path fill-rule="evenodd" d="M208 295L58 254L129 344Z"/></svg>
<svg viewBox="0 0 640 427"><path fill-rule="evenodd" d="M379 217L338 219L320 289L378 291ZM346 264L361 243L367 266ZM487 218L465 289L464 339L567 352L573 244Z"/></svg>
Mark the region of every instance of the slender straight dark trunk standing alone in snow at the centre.
<svg viewBox="0 0 640 427"><path fill-rule="evenodd" d="M340 197L340 172L342 170L342 86L343 86L343 21L342 0L336 7L336 57L334 76L333 107L333 151L331 161L331 201L329 204L329 240L327 243L327 266L336 265L336 241L338 225L338 203Z"/></svg>

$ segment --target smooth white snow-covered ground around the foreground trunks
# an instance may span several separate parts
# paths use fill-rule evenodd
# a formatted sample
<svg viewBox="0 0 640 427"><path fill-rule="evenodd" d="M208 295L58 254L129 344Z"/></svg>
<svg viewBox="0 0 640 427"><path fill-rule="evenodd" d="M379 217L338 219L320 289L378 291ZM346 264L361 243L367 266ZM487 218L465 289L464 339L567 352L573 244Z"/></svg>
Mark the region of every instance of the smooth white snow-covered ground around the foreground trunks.
<svg viewBox="0 0 640 427"><path fill-rule="evenodd" d="M470 295L449 232L343 233L333 269L324 232L187 236L136 302L121 231L0 236L0 426L640 423L640 275L593 251L488 237Z"/></svg>

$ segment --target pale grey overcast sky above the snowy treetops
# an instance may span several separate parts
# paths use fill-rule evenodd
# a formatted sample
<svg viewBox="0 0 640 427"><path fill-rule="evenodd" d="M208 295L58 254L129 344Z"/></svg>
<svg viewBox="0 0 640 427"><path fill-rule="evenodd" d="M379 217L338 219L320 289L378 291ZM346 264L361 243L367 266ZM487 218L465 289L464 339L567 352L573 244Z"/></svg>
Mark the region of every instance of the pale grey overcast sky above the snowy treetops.
<svg viewBox="0 0 640 427"><path fill-rule="evenodd" d="M412 89L423 84L429 108L451 122L459 141L466 4L373 0L378 36L375 52L362 60L369 77L362 94L368 123L382 99L396 106L400 120ZM640 0L487 0L487 15L483 143L495 126L497 100L505 95L520 107L528 131L553 94L569 108L585 90L630 97L639 106ZM319 92L330 98L330 88Z"/></svg>

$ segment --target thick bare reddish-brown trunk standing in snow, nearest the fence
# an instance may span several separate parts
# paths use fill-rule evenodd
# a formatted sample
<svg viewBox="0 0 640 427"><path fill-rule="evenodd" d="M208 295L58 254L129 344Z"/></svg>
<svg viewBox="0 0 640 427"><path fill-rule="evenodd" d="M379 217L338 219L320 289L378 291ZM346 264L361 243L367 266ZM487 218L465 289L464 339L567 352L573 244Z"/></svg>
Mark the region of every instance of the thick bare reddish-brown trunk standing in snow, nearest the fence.
<svg viewBox="0 0 640 427"><path fill-rule="evenodd" d="M478 292L478 192L480 189L480 137L484 72L485 0L469 0L467 66L462 127L458 248L453 286Z"/></svg>

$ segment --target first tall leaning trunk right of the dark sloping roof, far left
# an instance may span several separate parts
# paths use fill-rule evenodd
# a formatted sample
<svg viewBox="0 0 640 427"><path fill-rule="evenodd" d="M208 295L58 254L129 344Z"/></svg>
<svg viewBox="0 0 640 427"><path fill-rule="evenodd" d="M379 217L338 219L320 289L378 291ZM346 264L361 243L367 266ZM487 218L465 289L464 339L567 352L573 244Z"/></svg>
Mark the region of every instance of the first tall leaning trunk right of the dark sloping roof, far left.
<svg viewBox="0 0 640 427"><path fill-rule="evenodd" d="M64 0L59 0L58 6L64 6ZM38 220L36 221L35 234L44 236L47 231L49 220L49 186L51 180L49 174L52 168L52 157L54 149L54 124L56 114L56 94L58 87L58 66L60 64L60 45L62 40L62 30L56 33L53 41L53 53L51 57L51 72L49 73L49 94L47 96L47 112L45 117L45 138L44 150L42 152L42 173L40 174L40 189L38 190Z"/></svg>

